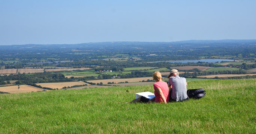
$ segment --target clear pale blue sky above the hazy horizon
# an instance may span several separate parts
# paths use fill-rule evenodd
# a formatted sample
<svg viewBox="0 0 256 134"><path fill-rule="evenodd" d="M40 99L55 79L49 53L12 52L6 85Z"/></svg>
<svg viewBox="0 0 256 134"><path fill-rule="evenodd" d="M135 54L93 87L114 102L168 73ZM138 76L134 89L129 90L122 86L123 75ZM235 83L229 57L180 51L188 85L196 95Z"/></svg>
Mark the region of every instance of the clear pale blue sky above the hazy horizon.
<svg viewBox="0 0 256 134"><path fill-rule="evenodd" d="M0 0L0 45L256 39L256 0Z"/></svg>

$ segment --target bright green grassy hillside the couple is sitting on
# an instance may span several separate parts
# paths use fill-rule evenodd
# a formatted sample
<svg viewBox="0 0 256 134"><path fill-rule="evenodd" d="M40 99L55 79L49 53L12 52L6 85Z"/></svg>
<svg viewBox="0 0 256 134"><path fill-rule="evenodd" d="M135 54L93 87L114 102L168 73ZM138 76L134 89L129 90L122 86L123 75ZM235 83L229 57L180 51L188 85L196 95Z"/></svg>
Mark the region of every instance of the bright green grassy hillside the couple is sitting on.
<svg viewBox="0 0 256 134"><path fill-rule="evenodd" d="M256 79L203 80L199 100L118 103L153 86L0 95L0 133L255 133Z"/></svg>

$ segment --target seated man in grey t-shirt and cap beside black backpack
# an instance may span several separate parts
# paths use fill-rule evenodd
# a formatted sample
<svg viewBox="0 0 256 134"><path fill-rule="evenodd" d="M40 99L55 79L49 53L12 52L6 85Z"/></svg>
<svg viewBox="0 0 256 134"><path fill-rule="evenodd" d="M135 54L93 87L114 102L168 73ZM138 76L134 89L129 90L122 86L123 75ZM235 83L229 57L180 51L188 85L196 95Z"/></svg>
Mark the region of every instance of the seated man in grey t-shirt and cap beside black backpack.
<svg viewBox="0 0 256 134"><path fill-rule="evenodd" d="M189 100L187 96L187 82L186 78L180 77L176 69L171 70L169 76L168 86L170 88L169 98L171 101Z"/></svg>

